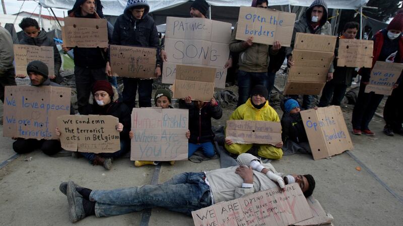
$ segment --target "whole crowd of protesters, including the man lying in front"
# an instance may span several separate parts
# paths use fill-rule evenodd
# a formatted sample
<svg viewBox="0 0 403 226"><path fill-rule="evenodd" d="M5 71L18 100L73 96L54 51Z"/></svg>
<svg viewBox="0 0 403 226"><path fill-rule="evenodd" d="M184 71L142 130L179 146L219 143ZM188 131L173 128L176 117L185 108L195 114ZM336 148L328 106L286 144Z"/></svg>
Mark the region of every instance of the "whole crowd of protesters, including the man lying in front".
<svg viewBox="0 0 403 226"><path fill-rule="evenodd" d="M267 0L253 0L252 7L266 9ZM104 18L103 6L100 0L77 0L73 9L68 12L69 17L75 18ZM194 18L208 18L209 5L205 0L196 0L190 6L190 16ZM155 76L161 75L162 64L167 61L164 43L160 44L156 23L148 15L150 7L146 0L128 0L127 6L114 26L108 23L108 40L110 44L125 46L141 46L156 48ZM228 201L248 193L257 192L296 182L300 185L305 196L312 194L315 181L307 175L287 175L277 173L271 164L261 164L259 158L248 154L252 147L257 150L256 155L266 159L281 159L283 148L303 150L309 153L309 144L305 133L300 110L317 107L313 103L312 95L303 95L302 105L298 102L298 95L284 98L281 108L284 111L280 120L276 110L269 103L269 94L274 86L274 80L279 63L287 58L288 67L294 65L292 51L297 32L317 35L332 35L330 24L327 21L328 10L325 1L315 0L307 8L302 17L296 21L292 35L291 47L283 47L281 40L273 45L253 42L253 37L246 41L236 39L237 24L232 33L229 44L230 56L223 67L234 67L232 56L238 59L238 107L233 111L229 120L251 120L281 122L282 142L270 144L237 144L231 139L225 139L225 150L237 156L239 166L208 171L205 173L183 173L173 177L161 185L144 185L127 189L110 191L91 190L80 187L74 182L60 185L60 190L67 195L70 206L70 218L76 222L85 216L110 216L145 208L160 206L167 209L190 214L197 210L220 201ZM49 74L48 67L41 61L32 61L27 66L27 75L31 85L59 86L62 81L59 69L60 55L46 32L39 28L38 23L31 18L24 18L20 23L24 31L22 44L36 46L51 46L54 48L54 74ZM355 39L359 31L359 24L349 22L344 26L340 39ZM403 11L398 12L387 28L374 36L374 57L376 61L403 62ZM10 34L0 27L0 82L1 99L4 101L6 85L16 85L14 72L13 42ZM352 67L339 67L336 57L331 63L327 82L323 88L318 106L340 105L346 89L352 84L357 74L362 76L358 100L354 107L352 124L353 133L374 136L369 129L369 123L378 107L383 95L374 92L365 93L365 86L371 77L371 68L361 68L358 72ZM155 92L154 104L152 99L153 79L123 78L123 92L121 98L117 92L116 77L112 76L109 64L109 50L107 48L82 48L62 46L64 51L74 51L74 75L77 88L78 112L80 115L110 115L119 119L116 130L120 133L120 150L115 153L75 153L84 156L94 165L101 165L109 170L113 158L118 158L130 150L130 139L133 131L130 129L131 109L136 107L136 93L139 93L139 107L157 106L172 108L171 94L167 89L158 89ZM394 133L403 135L402 107L398 103L402 97L400 78L394 85L392 94L388 97L384 109L386 126L384 133L393 136ZM183 98L180 107L189 110L188 156L200 150L206 157L215 155L212 118L223 117L220 103L212 97L209 102L193 99L191 96ZM75 112L71 112L75 114ZM54 128L60 136L62 131ZM28 153L41 149L47 155L53 155L60 150L59 140L35 140L14 138L13 149L17 153ZM284 147L283 147L284 145ZM173 161L170 162L174 164ZM157 165L156 161L136 161L135 165Z"/></svg>

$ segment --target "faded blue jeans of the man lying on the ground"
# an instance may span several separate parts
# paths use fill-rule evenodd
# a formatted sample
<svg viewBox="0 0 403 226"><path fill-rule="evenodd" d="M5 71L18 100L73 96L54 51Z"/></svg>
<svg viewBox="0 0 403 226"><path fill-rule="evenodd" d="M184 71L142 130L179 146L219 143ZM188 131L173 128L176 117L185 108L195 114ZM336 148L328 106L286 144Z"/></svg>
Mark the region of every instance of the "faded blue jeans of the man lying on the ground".
<svg viewBox="0 0 403 226"><path fill-rule="evenodd" d="M93 190L95 215L113 216L147 208L164 207L191 215L191 211L210 206L210 187L204 173L181 173L159 185Z"/></svg>

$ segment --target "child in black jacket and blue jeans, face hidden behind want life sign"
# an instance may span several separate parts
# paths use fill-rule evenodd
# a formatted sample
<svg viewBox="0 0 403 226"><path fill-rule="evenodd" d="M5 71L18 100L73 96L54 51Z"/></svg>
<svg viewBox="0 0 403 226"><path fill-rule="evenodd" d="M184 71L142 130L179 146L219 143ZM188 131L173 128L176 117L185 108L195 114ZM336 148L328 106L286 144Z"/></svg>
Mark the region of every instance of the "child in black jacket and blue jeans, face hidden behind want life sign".
<svg viewBox="0 0 403 226"><path fill-rule="evenodd" d="M197 149L201 148L206 157L213 157L214 150L214 136L211 129L211 118L221 119L223 116L223 109L220 104L213 97L210 102L203 102L193 100L188 96L185 98L186 108L189 109L189 154L192 156Z"/></svg>

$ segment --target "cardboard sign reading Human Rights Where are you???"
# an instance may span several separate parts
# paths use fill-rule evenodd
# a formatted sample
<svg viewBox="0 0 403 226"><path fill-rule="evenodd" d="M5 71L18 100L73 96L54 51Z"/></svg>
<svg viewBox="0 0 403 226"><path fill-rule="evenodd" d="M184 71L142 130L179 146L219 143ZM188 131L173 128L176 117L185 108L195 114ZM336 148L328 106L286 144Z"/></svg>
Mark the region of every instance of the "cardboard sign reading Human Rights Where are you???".
<svg viewBox="0 0 403 226"><path fill-rule="evenodd" d="M187 159L188 121L187 109L133 108L130 160Z"/></svg>

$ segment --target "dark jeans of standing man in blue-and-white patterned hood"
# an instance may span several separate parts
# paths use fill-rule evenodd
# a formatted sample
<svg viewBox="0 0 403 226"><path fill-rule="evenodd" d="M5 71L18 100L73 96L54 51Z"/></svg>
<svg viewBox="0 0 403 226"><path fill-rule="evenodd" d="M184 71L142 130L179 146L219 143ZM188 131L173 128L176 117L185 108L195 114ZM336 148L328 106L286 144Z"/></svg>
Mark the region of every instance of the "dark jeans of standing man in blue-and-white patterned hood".
<svg viewBox="0 0 403 226"><path fill-rule="evenodd" d="M123 102L130 110L136 107L137 86L139 86L139 106L151 107L153 79L123 78Z"/></svg>

